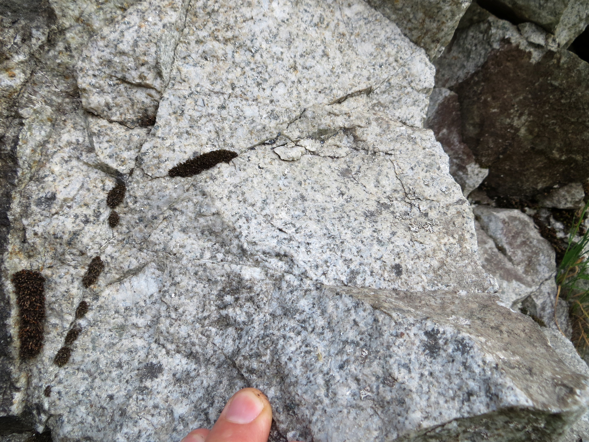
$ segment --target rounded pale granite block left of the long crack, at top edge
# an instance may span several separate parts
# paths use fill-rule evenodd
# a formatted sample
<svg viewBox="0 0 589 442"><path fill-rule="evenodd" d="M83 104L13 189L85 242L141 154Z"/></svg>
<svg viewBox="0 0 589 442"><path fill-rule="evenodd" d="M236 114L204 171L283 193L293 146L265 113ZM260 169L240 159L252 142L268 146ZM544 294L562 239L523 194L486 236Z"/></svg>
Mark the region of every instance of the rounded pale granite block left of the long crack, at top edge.
<svg viewBox="0 0 589 442"><path fill-rule="evenodd" d="M101 29L77 66L84 109L130 128L152 126L170 80L188 0L148 0Z"/></svg>

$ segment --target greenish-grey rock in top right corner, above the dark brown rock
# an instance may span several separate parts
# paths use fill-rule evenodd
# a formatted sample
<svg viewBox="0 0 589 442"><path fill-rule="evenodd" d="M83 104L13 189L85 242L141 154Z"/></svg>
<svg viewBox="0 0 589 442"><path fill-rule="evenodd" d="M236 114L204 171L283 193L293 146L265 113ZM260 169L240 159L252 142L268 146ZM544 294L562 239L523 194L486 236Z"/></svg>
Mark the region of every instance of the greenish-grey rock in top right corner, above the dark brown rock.
<svg viewBox="0 0 589 442"><path fill-rule="evenodd" d="M564 48L587 27L587 0L483 0L480 3L517 21L539 25L554 35L558 45Z"/></svg>

